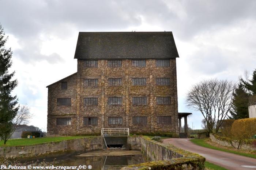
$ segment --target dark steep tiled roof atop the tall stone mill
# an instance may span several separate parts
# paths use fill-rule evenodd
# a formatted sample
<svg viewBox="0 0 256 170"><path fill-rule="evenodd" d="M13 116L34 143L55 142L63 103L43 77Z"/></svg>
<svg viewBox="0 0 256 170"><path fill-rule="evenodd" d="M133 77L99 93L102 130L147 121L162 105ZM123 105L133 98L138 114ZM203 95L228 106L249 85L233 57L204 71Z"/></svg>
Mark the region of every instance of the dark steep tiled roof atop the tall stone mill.
<svg viewBox="0 0 256 170"><path fill-rule="evenodd" d="M172 32L79 32L75 59L177 58Z"/></svg>

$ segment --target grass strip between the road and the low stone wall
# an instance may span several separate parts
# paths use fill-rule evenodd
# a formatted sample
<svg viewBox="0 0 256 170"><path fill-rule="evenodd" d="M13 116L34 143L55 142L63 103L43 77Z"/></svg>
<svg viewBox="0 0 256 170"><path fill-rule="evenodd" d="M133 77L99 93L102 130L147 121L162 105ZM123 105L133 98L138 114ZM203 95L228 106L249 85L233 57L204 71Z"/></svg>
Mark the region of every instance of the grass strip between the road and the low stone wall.
<svg viewBox="0 0 256 170"><path fill-rule="evenodd" d="M195 143L196 145L199 145L199 146L203 146L203 147L207 147L207 148L210 148L210 149L229 152L229 153L241 155L241 156L244 156L244 157L250 157L250 158L255 158L256 159L256 155L254 155L254 154L248 154L248 153L242 153L242 152L228 150L228 149L222 149L222 148L219 148L219 147L216 147L216 146L209 145L208 143L206 143L204 141L204 139L191 139L190 141Z"/></svg>

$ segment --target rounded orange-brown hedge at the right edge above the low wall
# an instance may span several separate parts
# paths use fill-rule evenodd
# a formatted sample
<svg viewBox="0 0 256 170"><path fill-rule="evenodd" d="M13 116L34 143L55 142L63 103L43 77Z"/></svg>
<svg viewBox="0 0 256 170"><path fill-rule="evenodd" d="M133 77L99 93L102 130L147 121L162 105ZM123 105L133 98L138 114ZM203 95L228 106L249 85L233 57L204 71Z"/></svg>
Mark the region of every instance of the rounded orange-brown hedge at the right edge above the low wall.
<svg viewBox="0 0 256 170"><path fill-rule="evenodd" d="M238 119L231 127L231 134L235 139L250 139L256 134L256 118Z"/></svg>

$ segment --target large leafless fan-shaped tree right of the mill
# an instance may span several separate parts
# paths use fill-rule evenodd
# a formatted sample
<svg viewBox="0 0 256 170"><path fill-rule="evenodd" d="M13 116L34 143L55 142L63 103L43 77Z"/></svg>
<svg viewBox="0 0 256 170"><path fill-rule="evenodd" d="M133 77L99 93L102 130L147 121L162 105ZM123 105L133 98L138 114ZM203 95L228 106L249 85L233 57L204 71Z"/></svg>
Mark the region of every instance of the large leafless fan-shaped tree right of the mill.
<svg viewBox="0 0 256 170"><path fill-rule="evenodd" d="M200 111L202 122L208 135L215 129L216 133L231 108L231 100L236 85L228 80L210 79L195 84L188 92L187 106Z"/></svg>

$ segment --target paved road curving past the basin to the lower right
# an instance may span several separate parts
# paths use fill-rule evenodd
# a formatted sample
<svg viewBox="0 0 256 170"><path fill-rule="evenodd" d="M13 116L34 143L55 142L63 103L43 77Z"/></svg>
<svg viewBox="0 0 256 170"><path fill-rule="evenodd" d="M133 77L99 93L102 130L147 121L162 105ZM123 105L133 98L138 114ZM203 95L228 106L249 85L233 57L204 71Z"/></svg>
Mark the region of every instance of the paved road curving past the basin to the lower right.
<svg viewBox="0 0 256 170"><path fill-rule="evenodd" d="M197 153L206 158L206 161L225 167L230 170L255 170L256 159L243 157L240 155L208 149L198 146L189 141L189 139L169 138L164 139L163 143L172 143L174 146Z"/></svg>

